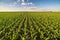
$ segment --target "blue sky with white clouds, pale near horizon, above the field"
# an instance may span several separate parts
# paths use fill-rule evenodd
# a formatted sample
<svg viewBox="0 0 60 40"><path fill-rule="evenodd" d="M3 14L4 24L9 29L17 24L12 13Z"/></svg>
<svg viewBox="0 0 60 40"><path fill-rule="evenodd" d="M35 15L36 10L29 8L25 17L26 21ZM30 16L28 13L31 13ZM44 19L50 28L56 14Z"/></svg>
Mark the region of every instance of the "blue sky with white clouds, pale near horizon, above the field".
<svg viewBox="0 0 60 40"><path fill-rule="evenodd" d="M0 0L0 11L60 11L60 0Z"/></svg>

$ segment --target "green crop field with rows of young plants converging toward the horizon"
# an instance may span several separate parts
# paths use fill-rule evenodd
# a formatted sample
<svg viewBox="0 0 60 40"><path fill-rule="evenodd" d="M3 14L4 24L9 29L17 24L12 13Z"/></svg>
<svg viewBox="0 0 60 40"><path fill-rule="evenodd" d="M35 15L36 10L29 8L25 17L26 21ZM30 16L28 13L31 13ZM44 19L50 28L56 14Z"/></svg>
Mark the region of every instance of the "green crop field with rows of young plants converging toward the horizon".
<svg viewBox="0 0 60 40"><path fill-rule="evenodd" d="M0 12L0 40L60 40L60 12Z"/></svg>

